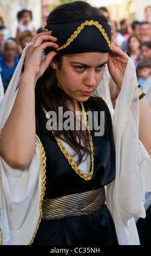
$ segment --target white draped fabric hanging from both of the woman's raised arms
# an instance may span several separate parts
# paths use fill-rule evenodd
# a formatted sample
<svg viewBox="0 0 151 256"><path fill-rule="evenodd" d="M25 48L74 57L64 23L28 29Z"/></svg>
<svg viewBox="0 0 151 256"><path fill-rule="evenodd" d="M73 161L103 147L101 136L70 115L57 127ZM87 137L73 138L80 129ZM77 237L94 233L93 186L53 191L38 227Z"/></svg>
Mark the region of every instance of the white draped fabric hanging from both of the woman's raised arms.
<svg viewBox="0 0 151 256"><path fill-rule="evenodd" d="M0 106L0 129L3 128L16 98L24 56L25 49ZM110 101L106 72L99 86L99 94L107 102L113 117L116 148L116 178L107 186L107 205L115 222L120 245L136 245L139 244L139 239L133 217L145 217L143 203L145 193L150 191L151 163L138 137L137 81L135 66L130 59L115 110ZM44 196L45 156L38 137L35 155L28 168L12 169L1 157L0 170L1 244L28 245L42 217Z"/></svg>

